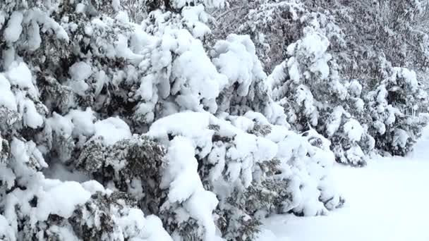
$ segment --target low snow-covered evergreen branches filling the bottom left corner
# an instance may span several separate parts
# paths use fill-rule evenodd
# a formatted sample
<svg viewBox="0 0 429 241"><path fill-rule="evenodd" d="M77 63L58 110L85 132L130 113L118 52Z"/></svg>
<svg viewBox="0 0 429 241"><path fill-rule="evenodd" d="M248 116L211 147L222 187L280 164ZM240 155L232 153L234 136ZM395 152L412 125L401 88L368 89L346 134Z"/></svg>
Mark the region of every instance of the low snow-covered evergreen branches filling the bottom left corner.
<svg viewBox="0 0 429 241"><path fill-rule="evenodd" d="M171 240L159 218L145 217L125 193L37 174L27 189L12 188L2 199L6 240Z"/></svg>

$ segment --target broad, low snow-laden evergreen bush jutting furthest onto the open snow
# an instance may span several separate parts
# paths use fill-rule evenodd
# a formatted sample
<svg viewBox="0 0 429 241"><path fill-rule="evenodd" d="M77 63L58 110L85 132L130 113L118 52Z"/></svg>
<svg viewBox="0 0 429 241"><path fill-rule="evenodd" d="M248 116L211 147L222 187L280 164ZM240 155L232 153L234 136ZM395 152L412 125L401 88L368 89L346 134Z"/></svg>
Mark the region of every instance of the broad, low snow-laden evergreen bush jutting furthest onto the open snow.
<svg viewBox="0 0 429 241"><path fill-rule="evenodd" d="M260 113L176 113L153 123L148 135L168 147L163 207L176 216L169 225L188 238L201 227L209 235L215 220L227 240L252 239L266 214L326 214L343 202L329 180L334 156L327 140L314 132L300 137ZM207 205L195 210L204 197Z"/></svg>

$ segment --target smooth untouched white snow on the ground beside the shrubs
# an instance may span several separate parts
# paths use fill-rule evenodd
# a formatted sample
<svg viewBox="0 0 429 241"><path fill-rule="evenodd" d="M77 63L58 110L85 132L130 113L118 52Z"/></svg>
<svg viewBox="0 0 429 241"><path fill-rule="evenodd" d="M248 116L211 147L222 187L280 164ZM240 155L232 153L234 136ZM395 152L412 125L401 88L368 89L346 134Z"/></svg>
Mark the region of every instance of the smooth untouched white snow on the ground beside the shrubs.
<svg viewBox="0 0 429 241"><path fill-rule="evenodd" d="M329 216L274 216L260 240L429 241L429 128L415 149L366 168L335 166L344 208Z"/></svg>

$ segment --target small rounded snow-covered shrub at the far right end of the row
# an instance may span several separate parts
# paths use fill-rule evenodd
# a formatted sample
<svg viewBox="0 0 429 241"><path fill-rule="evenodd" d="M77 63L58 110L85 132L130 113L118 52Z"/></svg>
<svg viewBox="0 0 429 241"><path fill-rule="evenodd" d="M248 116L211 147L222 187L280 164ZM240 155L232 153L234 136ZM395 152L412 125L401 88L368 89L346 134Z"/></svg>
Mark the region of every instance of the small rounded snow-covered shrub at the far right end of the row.
<svg viewBox="0 0 429 241"><path fill-rule="evenodd" d="M368 93L370 133L377 149L394 155L410 152L428 123L419 113L428 111L428 94L407 68L391 68L390 75Z"/></svg>

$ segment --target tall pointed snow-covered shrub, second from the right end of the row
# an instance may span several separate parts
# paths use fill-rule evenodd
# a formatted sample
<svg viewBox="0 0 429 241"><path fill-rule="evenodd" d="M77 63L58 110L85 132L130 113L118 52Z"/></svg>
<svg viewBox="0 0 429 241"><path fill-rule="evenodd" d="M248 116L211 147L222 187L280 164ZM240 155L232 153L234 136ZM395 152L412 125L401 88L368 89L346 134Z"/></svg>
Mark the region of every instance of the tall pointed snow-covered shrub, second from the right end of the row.
<svg viewBox="0 0 429 241"><path fill-rule="evenodd" d="M327 54L329 42L307 29L306 37L288 47L289 58L268 77L274 99L299 132L315 129L331 141L337 161L365 165L373 140L363 126L361 85L339 79Z"/></svg>

